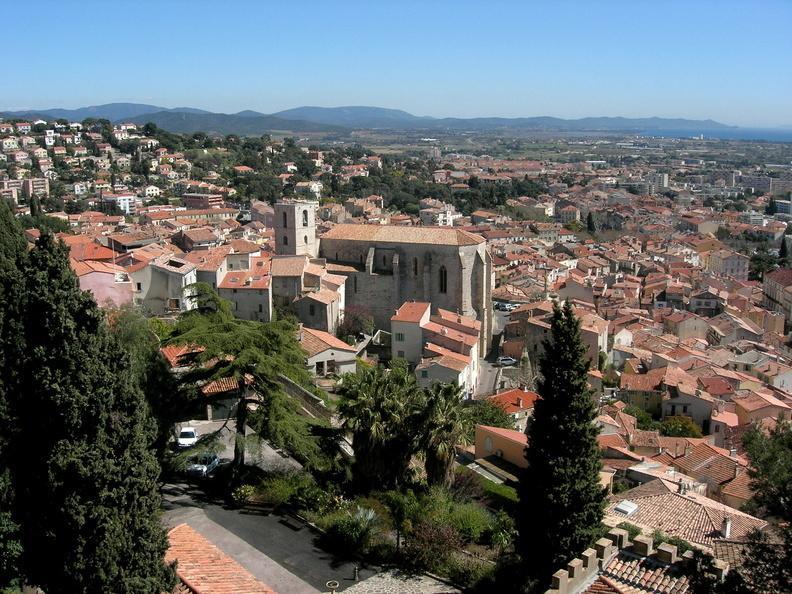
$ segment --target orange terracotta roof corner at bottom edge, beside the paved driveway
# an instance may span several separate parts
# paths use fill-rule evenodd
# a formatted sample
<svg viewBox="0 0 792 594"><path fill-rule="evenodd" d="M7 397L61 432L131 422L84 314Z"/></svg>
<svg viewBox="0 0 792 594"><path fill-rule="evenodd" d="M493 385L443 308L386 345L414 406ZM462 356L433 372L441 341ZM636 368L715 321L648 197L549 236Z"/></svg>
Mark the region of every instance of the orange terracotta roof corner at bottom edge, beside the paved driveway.
<svg viewBox="0 0 792 594"><path fill-rule="evenodd" d="M247 569L187 524L168 533L165 561L177 561L176 575L195 594L276 594Z"/></svg>

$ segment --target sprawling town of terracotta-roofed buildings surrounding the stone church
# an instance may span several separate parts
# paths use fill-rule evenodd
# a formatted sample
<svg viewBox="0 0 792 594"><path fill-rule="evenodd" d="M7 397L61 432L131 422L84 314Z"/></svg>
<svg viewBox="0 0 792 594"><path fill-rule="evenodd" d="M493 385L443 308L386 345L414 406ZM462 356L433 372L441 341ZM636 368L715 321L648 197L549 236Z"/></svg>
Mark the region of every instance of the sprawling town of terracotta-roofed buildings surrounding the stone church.
<svg viewBox="0 0 792 594"><path fill-rule="evenodd" d="M103 308L172 324L199 307L201 284L239 320L296 319L313 386L294 393L313 416L337 421L342 378L361 363L404 361L422 389L456 384L470 406L493 404L510 426L478 423L457 448L492 488L527 465L553 305L569 303L611 540L559 568L552 591L686 592L669 577L682 550L653 535L706 550L723 574L768 527L742 511L754 495L743 436L792 419L792 166L738 166L733 147L703 140L559 142L594 158L9 120L0 197L31 245L49 230L68 246ZM178 372L191 352L163 355ZM231 407L204 409L210 422ZM171 551L197 572L184 555L214 545L189 530L171 532Z"/></svg>

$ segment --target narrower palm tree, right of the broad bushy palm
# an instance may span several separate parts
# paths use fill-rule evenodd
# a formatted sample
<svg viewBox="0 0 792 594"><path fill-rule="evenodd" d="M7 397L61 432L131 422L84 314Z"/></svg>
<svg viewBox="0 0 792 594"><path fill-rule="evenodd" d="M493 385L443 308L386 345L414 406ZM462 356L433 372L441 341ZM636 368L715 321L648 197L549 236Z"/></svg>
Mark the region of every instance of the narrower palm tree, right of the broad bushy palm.
<svg viewBox="0 0 792 594"><path fill-rule="evenodd" d="M426 479L445 488L454 480L457 444L467 442L470 415L456 384L434 384L427 390Z"/></svg>

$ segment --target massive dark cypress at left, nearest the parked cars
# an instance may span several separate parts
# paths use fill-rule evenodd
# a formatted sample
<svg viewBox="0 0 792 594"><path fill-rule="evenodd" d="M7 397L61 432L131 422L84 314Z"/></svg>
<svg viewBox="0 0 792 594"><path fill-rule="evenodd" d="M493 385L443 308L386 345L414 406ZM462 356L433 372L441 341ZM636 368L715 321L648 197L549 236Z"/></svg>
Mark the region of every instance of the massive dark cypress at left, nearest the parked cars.
<svg viewBox="0 0 792 594"><path fill-rule="evenodd" d="M47 594L159 594L173 570L155 428L129 358L48 233L24 278L27 356L10 437L23 576Z"/></svg>

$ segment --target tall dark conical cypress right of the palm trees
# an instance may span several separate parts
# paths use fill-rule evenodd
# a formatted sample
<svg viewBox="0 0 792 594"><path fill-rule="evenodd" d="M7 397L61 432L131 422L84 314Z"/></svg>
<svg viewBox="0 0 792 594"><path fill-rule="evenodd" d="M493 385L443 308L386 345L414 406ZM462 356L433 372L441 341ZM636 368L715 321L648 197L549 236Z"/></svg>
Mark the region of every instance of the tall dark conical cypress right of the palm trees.
<svg viewBox="0 0 792 594"><path fill-rule="evenodd" d="M595 539L603 516L596 410L586 384L590 362L585 355L572 306L554 306L519 492L519 552L529 581L542 591L554 571Z"/></svg>

